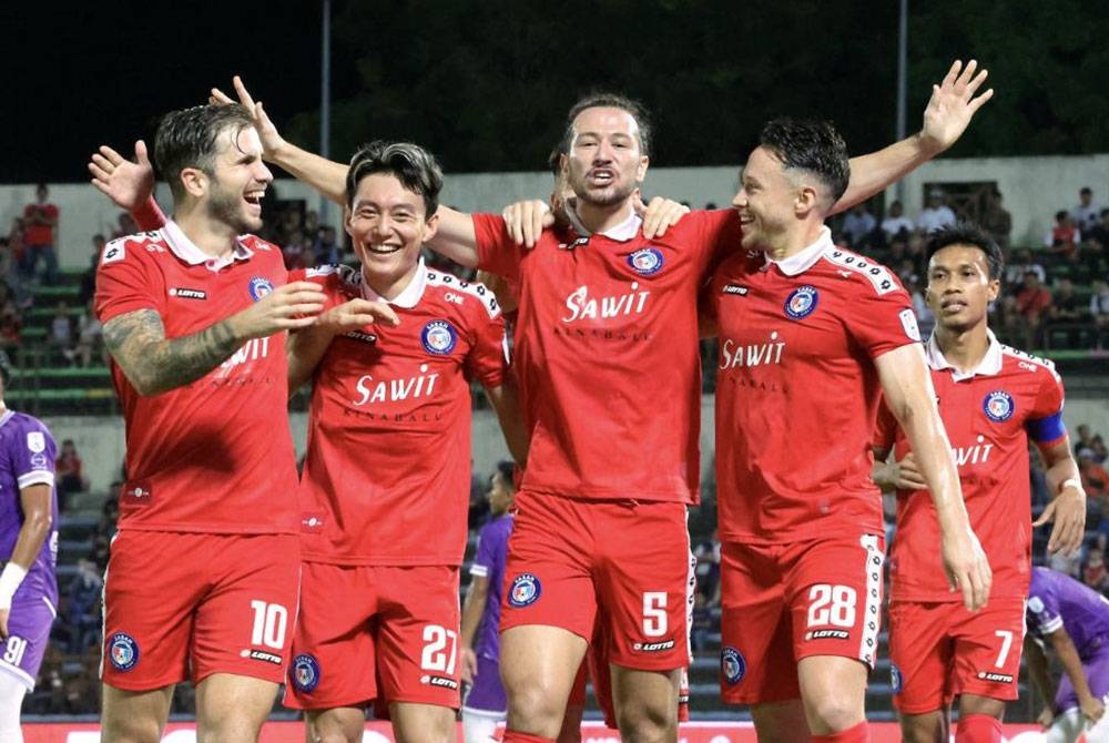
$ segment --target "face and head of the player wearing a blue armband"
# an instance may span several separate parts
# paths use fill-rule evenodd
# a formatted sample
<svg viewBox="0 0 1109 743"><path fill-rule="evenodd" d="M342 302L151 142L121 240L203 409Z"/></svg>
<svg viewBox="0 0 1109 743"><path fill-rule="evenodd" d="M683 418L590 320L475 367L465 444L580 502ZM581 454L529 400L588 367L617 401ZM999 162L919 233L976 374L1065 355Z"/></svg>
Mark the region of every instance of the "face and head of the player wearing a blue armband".
<svg viewBox="0 0 1109 743"><path fill-rule="evenodd" d="M985 323L999 289L1000 282L989 277L989 262L979 247L948 245L928 262L925 296L945 330L963 333Z"/></svg>

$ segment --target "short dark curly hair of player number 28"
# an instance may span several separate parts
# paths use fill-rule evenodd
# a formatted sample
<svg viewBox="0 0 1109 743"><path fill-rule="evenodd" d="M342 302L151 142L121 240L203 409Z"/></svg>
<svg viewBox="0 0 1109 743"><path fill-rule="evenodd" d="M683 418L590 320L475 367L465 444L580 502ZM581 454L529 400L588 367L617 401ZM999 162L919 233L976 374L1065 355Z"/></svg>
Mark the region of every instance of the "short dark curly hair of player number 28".
<svg viewBox="0 0 1109 743"><path fill-rule="evenodd" d="M832 204L847 190L847 144L831 121L774 119L763 126L759 144L773 152L786 169L818 177L831 192Z"/></svg>

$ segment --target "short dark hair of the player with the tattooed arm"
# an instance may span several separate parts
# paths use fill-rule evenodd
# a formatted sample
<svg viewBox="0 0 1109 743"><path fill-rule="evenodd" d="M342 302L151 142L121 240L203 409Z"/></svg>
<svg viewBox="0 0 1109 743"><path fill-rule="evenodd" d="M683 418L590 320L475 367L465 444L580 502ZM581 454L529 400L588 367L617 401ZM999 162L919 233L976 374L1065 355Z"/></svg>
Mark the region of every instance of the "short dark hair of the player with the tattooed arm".
<svg viewBox="0 0 1109 743"><path fill-rule="evenodd" d="M154 135L154 163L170 184L175 200L185 195L181 171L199 167L208 175L215 173L215 155L220 151L220 134L231 129L235 138L254 126L251 112L238 103L194 105L171 111L162 116Z"/></svg>

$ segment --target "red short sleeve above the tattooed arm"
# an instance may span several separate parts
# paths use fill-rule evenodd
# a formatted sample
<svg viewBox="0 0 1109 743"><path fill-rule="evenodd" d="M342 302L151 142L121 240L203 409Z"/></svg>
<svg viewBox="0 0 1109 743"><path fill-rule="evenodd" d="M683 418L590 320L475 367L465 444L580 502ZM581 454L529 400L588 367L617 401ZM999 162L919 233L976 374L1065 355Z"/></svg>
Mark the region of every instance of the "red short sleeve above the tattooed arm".
<svg viewBox="0 0 1109 743"><path fill-rule="evenodd" d="M141 237L120 237L104 246L96 267L96 317L106 324L136 309L161 308L164 288L152 269Z"/></svg>

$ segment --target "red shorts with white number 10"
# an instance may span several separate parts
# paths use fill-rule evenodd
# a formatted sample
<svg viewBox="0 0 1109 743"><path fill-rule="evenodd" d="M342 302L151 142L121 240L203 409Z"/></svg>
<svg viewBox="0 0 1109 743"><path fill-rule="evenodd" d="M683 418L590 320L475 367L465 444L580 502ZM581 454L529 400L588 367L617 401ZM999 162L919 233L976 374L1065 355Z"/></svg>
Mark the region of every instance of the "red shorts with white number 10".
<svg viewBox="0 0 1109 743"><path fill-rule="evenodd" d="M295 535L120 531L104 580L100 678L150 691L213 673L285 679Z"/></svg>

